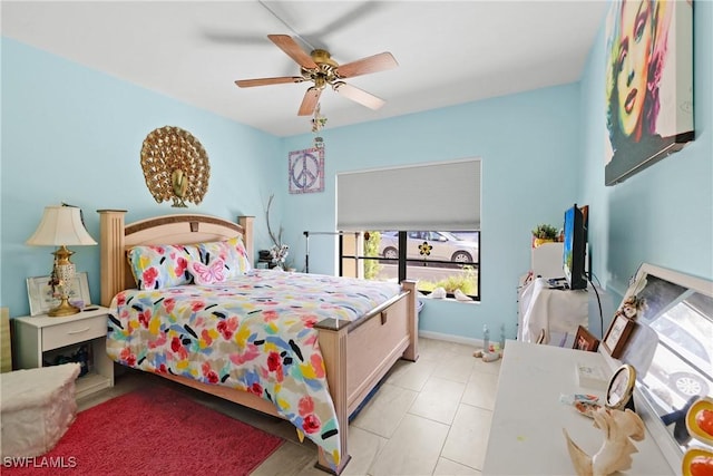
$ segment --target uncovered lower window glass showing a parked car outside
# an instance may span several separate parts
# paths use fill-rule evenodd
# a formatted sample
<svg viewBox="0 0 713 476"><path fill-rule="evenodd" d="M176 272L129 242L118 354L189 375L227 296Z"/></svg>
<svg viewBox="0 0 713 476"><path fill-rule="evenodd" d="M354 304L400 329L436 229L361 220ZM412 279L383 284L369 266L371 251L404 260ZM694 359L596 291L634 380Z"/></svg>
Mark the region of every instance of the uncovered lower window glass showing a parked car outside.
<svg viewBox="0 0 713 476"><path fill-rule="evenodd" d="M403 244L406 243L406 245ZM480 300L479 231L369 231L340 236L340 274L381 281L418 280Z"/></svg>

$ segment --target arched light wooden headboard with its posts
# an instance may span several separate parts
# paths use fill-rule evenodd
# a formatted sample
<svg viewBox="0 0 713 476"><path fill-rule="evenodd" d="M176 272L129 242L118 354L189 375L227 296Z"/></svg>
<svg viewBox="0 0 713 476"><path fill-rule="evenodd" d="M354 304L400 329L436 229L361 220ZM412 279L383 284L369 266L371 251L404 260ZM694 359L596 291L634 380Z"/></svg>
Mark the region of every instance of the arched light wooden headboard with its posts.
<svg viewBox="0 0 713 476"><path fill-rule="evenodd" d="M125 225L125 210L98 210L101 305L108 307L114 297L135 288L126 251L145 244L193 244L243 236L251 263L254 262L254 216L238 216L237 223L211 215L162 215Z"/></svg>

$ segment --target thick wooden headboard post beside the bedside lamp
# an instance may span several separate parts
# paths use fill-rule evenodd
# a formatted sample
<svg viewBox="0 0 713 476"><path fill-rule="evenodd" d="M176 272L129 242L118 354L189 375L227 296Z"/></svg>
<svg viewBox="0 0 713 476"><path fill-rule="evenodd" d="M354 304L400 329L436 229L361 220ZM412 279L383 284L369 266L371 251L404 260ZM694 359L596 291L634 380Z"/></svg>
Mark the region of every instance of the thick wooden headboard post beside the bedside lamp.
<svg viewBox="0 0 713 476"><path fill-rule="evenodd" d="M126 210L97 210L99 213L99 250L101 305L108 308L111 299L124 290L124 215Z"/></svg>

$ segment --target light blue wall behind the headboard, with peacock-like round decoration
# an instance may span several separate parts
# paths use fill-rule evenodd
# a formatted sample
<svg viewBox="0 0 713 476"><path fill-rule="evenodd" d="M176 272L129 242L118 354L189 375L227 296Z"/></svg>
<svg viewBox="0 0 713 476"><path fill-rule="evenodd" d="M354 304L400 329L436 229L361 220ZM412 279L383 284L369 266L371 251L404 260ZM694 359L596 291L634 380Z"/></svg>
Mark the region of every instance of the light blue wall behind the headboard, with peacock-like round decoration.
<svg viewBox="0 0 713 476"><path fill-rule="evenodd" d="M211 182L199 206L157 204L145 185L141 145L164 126L191 132L208 154ZM97 241L99 208L127 210L127 222L187 211L261 216L280 154L280 140L268 134L3 38L0 304L12 317L28 314L26 278L51 271L52 250L25 244L45 206L80 206ZM257 226L264 245L261 220ZM74 251L98 302L98 246Z"/></svg>

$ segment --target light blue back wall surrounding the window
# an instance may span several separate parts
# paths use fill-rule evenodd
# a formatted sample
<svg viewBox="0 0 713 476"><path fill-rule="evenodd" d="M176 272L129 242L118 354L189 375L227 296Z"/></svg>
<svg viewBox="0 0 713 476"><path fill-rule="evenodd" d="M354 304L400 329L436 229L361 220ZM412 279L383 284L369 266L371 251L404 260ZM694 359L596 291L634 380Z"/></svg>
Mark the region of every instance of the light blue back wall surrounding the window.
<svg viewBox="0 0 713 476"><path fill-rule="evenodd" d="M516 288L529 268L530 230L561 223L578 193L577 85L323 130L325 191L289 195L282 187L285 227L304 260L303 231L334 231L334 176L398 164L482 158L481 295L479 304L427 301L420 329L480 338L482 326L516 332ZM323 111L329 118L329 111ZM329 123L328 123L329 126ZM285 140L283 156L311 146L312 135ZM428 184L413 184L428 193ZM364 191L368 193L368 191ZM403 206L408 206L407 203ZM443 207L467 206L443 203ZM294 246L299 243L299 246ZM334 241L310 239L310 271L335 270Z"/></svg>

